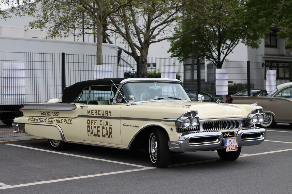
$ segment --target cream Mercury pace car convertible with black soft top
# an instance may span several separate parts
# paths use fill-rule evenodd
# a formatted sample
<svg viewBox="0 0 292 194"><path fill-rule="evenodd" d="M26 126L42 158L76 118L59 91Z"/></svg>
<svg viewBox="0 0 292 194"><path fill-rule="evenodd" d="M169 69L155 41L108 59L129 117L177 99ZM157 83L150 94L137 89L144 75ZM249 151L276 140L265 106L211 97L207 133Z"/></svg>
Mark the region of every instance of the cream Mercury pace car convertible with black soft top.
<svg viewBox="0 0 292 194"><path fill-rule="evenodd" d="M236 160L242 146L258 145L266 130L256 105L190 101L176 79L99 79L65 88L62 103L25 104L14 132L48 138L55 150L69 143L147 149L155 167L171 153L217 150Z"/></svg>

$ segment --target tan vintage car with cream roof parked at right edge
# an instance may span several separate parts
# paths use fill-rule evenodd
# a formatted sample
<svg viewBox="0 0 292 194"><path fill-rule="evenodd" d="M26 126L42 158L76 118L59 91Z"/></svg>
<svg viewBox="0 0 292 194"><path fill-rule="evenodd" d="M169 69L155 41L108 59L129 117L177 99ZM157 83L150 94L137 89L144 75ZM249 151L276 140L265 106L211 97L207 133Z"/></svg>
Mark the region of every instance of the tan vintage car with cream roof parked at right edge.
<svg viewBox="0 0 292 194"><path fill-rule="evenodd" d="M263 127L274 127L277 123L292 124L292 82L277 86L270 94L262 97L233 96L235 104L253 104L263 107L265 120Z"/></svg>

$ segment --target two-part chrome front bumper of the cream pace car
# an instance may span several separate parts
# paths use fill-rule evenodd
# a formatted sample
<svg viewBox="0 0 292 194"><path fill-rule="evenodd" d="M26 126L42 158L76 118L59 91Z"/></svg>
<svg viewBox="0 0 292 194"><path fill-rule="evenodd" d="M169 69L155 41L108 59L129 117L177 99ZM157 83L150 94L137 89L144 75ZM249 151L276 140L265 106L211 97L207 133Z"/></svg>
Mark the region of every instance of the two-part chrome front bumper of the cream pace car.
<svg viewBox="0 0 292 194"><path fill-rule="evenodd" d="M265 140L263 128L238 129L235 137L238 147L258 145ZM223 134L220 131L201 131L183 133L178 141L168 141L171 152L196 152L225 148Z"/></svg>

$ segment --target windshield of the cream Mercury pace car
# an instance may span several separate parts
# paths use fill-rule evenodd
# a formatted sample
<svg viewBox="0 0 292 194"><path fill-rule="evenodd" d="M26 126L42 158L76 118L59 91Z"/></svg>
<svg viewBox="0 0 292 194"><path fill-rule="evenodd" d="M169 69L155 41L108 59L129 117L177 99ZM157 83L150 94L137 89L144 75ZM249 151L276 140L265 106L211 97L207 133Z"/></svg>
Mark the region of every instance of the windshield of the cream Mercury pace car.
<svg viewBox="0 0 292 194"><path fill-rule="evenodd" d="M123 96L122 96L122 95ZM155 100L190 100L182 85L173 82L134 82L126 83L121 89L117 103L125 103L133 95L135 102Z"/></svg>

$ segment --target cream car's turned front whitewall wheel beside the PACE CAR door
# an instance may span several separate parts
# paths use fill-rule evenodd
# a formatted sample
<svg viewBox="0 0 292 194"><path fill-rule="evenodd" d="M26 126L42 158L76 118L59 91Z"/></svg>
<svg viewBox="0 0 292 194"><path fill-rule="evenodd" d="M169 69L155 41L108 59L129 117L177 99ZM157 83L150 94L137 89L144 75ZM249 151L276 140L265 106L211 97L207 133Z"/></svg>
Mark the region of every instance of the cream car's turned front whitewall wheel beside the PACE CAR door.
<svg viewBox="0 0 292 194"><path fill-rule="evenodd" d="M168 136L162 129L154 129L149 137L149 154L153 166L164 168L170 164L171 152L168 148Z"/></svg>

